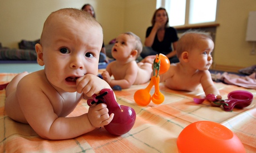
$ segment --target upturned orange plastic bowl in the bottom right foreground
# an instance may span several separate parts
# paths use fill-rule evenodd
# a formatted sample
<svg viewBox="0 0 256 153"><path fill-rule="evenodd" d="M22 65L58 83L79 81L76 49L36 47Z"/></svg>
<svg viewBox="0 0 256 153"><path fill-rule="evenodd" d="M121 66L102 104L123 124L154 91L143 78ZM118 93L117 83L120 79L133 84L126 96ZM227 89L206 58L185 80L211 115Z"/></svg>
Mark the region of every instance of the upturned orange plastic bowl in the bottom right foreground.
<svg viewBox="0 0 256 153"><path fill-rule="evenodd" d="M242 142L227 127L198 121L185 127L177 139L179 152L246 152Z"/></svg>

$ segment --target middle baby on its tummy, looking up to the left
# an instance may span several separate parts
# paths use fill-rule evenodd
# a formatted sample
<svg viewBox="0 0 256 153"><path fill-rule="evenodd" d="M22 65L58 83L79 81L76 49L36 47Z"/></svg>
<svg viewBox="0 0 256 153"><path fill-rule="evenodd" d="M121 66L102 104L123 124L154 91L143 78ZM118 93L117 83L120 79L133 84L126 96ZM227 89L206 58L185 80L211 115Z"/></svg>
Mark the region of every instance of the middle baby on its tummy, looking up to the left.
<svg viewBox="0 0 256 153"><path fill-rule="evenodd" d="M151 78L151 63L136 63L142 51L140 38L132 32L121 33L112 47L112 56L116 59L106 67L101 75L111 87L119 85L122 89L134 84L147 83ZM115 79L111 79L111 75Z"/></svg>

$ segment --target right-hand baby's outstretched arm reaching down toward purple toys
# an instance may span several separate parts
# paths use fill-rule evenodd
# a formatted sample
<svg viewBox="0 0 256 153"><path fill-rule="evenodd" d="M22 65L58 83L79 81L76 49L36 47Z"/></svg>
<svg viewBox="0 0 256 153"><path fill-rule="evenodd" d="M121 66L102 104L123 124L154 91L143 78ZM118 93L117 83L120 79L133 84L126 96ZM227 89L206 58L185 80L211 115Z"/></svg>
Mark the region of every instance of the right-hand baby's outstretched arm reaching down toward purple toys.
<svg viewBox="0 0 256 153"><path fill-rule="evenodd" d="M214 94L217 96L218 99L222 98L219 93L219 90L216 88L216 86L213 83L213 80L211 79L211 74L209 70L205 70L203 72L200 82L204 89L205 95Z"/></svg>

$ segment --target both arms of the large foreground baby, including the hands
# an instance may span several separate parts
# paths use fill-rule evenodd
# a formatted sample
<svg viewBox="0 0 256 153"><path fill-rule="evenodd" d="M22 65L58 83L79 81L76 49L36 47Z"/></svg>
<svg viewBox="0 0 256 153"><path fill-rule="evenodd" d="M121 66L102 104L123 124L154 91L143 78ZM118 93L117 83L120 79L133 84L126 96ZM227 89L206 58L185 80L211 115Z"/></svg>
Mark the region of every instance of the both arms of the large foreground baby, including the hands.
<svg viewBox="0 0 256 153"><path fill-rule="evenodd" d="M33 77L24 77L19 81L16 96L28 124L44 139L71 139L107 125L114 118L114 114L107 114L109 110L106 104L92 105L88 113L66 118L65 112L70 111L66 109L72 110L81 94L57 93L45 81ZM104 80L92 74L77 79L77 84L78 91L89 96L91 93L99 93L101 89L110 88Z"/></svg>

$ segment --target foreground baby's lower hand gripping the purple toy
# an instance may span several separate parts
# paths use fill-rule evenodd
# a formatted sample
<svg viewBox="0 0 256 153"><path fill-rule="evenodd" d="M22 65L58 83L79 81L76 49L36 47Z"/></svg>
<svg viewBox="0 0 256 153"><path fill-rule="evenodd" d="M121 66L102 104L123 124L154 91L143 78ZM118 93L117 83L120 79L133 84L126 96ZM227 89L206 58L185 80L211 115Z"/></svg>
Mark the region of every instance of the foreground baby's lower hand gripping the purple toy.
<svg viewBox="0 0 256 153"><path fill-rule="evenodd" d="M109 109L106 104L93 104L88 110L88 119L92 126L101 127L109 124L114 118L114 114L109 115Z"/></svg>

